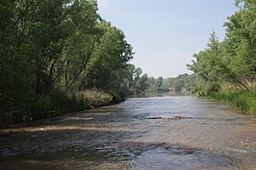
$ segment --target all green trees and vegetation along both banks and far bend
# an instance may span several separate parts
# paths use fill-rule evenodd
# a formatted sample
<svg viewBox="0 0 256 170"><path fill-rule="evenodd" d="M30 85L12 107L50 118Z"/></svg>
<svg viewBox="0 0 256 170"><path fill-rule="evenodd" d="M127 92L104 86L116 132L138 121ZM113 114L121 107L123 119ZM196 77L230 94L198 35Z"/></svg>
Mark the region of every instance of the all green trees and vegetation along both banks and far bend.
<svg viewBox="0 0 256 170"><path fill-rule="evenodd" d="M147 91L193 91L256 112L256 2L237 0L219 42L194 55L193 75L148 78L124 33L94 0L2 0L0 124L61 115Z"/></svg>

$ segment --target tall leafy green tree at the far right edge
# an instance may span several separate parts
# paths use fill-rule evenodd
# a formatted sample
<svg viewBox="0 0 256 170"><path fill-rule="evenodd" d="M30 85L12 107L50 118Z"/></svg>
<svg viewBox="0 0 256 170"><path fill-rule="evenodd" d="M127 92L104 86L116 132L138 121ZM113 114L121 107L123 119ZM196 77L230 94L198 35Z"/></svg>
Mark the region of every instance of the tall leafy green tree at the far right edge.
<svg viewBox="0 0 256 170"><path fill-rule="evenodd" d="M256 77L256 2L237 1L240 11L224 24L226 27L226 56L233 85L249 90Z"/></svg>

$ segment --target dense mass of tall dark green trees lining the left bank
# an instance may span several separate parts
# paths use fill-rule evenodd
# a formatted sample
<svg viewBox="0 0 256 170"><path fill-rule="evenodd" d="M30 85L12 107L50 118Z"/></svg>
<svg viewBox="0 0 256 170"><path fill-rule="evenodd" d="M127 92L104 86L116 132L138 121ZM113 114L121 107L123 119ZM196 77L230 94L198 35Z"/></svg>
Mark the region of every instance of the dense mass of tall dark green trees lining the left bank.
<svg viewBox="0 0 256 170"><path fill-rule="evenodd" d="M132 46L96 1L1 0L0 26L2 122L85 109L87 89L112 102L129 93Z"/></svg>

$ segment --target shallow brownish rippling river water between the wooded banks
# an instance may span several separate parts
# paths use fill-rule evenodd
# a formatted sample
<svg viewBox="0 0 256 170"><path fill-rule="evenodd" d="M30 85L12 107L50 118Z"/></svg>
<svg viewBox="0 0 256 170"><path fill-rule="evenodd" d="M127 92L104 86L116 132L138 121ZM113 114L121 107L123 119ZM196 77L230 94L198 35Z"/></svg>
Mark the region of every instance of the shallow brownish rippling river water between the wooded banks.
<svg viewBox="0 0 256 170"><path fill-rule="evenodd" d="M256 169L256 117L192 96L132 98L23 126L0 130L1 169Z"/></svg>

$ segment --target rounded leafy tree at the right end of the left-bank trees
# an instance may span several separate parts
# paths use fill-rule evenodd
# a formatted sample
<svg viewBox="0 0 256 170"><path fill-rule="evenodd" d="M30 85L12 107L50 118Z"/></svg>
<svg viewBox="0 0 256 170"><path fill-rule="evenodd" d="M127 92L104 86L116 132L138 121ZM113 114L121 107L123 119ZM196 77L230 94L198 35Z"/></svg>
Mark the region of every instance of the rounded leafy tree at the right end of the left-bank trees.
<svg viewBox="0 0 256 170"><path fill-rule="evenodd" d="M128 61L133 59L132 46L110 23L102 21L100 27L103 35L89 62L85 86L102 89L122 99L127 88Z"/></svg>

